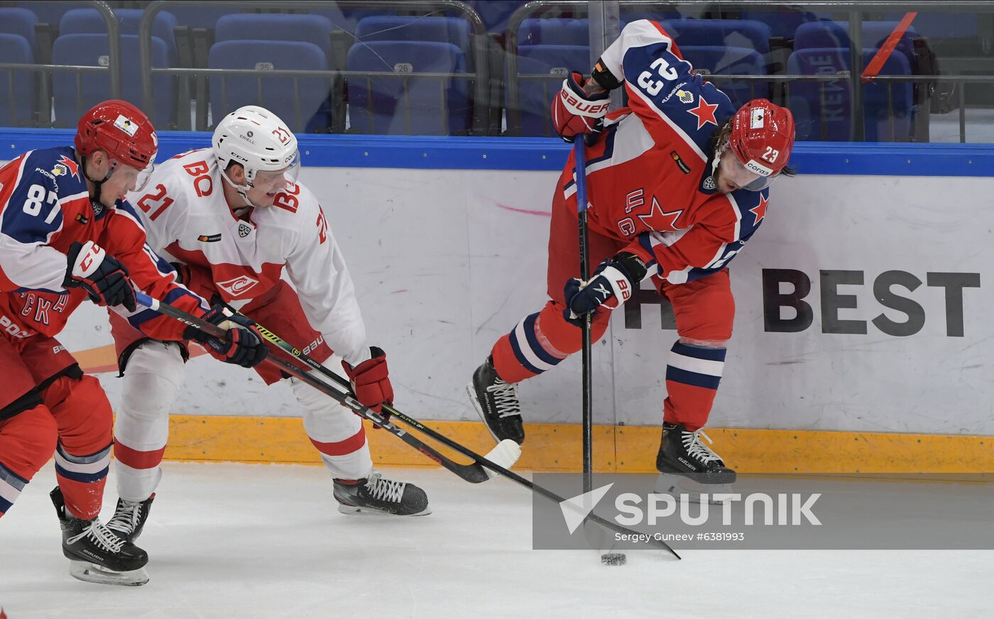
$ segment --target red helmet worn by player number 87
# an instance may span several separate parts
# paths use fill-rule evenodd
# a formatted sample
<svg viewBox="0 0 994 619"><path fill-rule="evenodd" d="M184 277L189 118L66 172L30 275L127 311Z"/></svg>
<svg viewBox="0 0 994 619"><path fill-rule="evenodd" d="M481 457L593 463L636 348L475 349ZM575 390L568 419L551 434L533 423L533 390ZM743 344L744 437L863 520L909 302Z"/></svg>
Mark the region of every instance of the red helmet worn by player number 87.
<svg viewBox="0 0 994 619"><path fill-rule="evenodd" d="M127 101L111 99L97 103L80 118L76 150L83 157L102 150L110 159L145 170L155 162L159 138L143 111Z"/></svg>

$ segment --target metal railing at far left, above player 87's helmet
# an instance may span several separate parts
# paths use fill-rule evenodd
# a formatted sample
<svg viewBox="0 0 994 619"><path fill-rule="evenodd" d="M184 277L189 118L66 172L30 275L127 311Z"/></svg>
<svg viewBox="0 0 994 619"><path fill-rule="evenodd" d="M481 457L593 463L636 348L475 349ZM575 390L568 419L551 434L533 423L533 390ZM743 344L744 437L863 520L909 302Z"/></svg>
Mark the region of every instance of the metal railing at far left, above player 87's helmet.
<svg viewBox="0 0 994 619"><path fill-rule="evenodd" d="M39 4L53 4L58 0L35 0ZM4 6L7 3L0 2L0 6ZM15 72L28 72L36 76L41 76L41 79L34 84L34 94L37 96L37 114L38 118L36 122L41 126L50 126L52 124L52 84L51 78L53 74L60 72L76 72L77 74L77 103L78 107L82 104L82 75L83 74L107 74L109 77L110 91L107 92L107 98L120 98L121 95L121 53L120 53L120 28L117 24L117 18L114 16L114 12L110 9L110 6L103 2L102 0L79 0L81 8L90 7L99 11L100 16L103 17L103 21L107 26L107 66L106 67L92 67L92 66L67 66L67 65L43 65L43 64L33 64L24 65L16 63L0 63L0 71L7 70L7 83L9 87L9 97L10 97L10 120L11 126L17 125L17 101L14 97L14 73ZM82 114L83 111L80 111ZM61 122L60 119L56 119L57 122ZM75 124L75 119L73 121Z"/></svg>

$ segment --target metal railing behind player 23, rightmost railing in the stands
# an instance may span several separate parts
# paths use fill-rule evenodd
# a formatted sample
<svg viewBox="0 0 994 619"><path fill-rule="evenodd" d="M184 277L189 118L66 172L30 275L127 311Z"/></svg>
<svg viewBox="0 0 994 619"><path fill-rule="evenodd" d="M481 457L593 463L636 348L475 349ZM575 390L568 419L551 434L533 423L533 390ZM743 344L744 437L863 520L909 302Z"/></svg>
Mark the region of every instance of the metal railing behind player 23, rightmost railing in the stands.
<svg viewBox="0 0 994 619"><path fill-rule="evenodd" d="M712 74L708 75L706 78L713 81L727 81L727 80L742 80L748 82L783 82L785 88L789 89L789 83L791 81L848 81L849 82L849 96L850 96L850 110L852 114L851 124L850 124L850 139L852 141L864 141L865 135L865 113L866 109L864 106L864 88L866 84L862 78L863 74L863 15L864 13L874 12L874 11L901 11L901 10L927 10L928 12L957 12L957 11L968 11L970 13L992 13L994 14L994 1L992 0L976 0L976 1L935 1L935 0L878 0L876 2L854 2L854 1L841 1L841 0L821 0L813 2L787 2L787 1L767 1L767 0L683 0L681 2L659 2L658 0L617 0L619 7L633 10L633 9L648 9L648 10L659 10L663 11L667 8L677 8L681 10L685 9L701 9L702 12L707 11L710 13L718 13L721 17L723 12L735 13L740 12L744 9L749 10L762 10L762 9L776 9L778 7L791 7L802 9L815 9L815 8L826 8L828 10L843 13L848 12L849 14L849 59L850 67L848 75L845 77L839 76L804 76L804 75L767 75L767 76L733 76L727 74ZM588 11L588 4L586 0L533 0L528 2L519 8L512 14L508 20L508 26L506 31L506 41L507 46L507 120L508 128L511 134L520 135L522 120L521 120L521 97L519 82L522 79L545 79L549 82L559 83L562 81L563 76L553 76L553 75L522 75L519 74L518 69L518 30L522 23L529 17L539 15L543 12L548 12L550 10L561 10L569 11L574 16L584 16ZM623 15L623 14L622 14ZM571 68L580 71L586 71L587 68ZM994 80L994 77L988 76L878 76L874 77L870 81L880 81L892 83L896 81L910 81L914 84L932 84L936 82L954 82L965 86L969 82L977 83L988 83ZM964 102L965 97L963 90L965 87L958 88L958 99L960 102L959 108L959 122L960 122L960 139L965 141L966 129L965 129L965 109ZM824 97L824 86L819 88L820 96ZM889 97L892 97L892 90L889 86ZM548 98L548 97L547 97ZM927 101L925 101L926 103ZM916 101L921 103L921 101ZM892 118L893 118L893 98L890 102ZM921 111L921 110L919 110ZM923 113L927 113L927 109L923 110ZM824 135L824 118L823 131Z"/></svg>

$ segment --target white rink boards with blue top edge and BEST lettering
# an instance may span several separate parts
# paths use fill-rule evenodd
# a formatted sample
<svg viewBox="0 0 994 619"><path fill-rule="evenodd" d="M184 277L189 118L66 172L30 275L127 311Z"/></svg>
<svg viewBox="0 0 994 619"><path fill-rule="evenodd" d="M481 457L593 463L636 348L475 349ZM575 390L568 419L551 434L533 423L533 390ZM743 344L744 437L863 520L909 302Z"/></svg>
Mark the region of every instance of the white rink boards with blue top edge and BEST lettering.
<svg viewBox="0 0 994 619"><path fill-rule="evenodd" d="M197 137L163 143L178 152L206 144ZM304 149L318 138L307 139ZM305 163L348 167L311 166L301 178L342 245L370 341L389 353L398 404L422 419L474 420L464 390L472 369L545 301L549 210L565 148L507 142L517 165L533 168L522 171L508 169L514 157L501 155L500 140L475 148L466 140L326 142L305 150ZM396 164L385 154L392 148ZM871 176L845 166L869 162L867 151L880 146L849 147L848 157L831 145L819 157L819 148L798 149L802 172L807 162L819 174L773 186L767 221L732 263L735 335L709 426L842 432L856 441L872 432L994 435L989 152L916 147L902 159L884 148ZM425 163L447 150L463 169ZM375 161L367 167L363 158ZM594 421L658 432L676 334L658 297L636 301L615 313L594 348ZM116 402L121 381L103 311L84 305L62 339ZM522 385L526 420L579 422L579 361ZM203 357L190 366L177 413L299 414L285 386L264 387Z"/></svg>

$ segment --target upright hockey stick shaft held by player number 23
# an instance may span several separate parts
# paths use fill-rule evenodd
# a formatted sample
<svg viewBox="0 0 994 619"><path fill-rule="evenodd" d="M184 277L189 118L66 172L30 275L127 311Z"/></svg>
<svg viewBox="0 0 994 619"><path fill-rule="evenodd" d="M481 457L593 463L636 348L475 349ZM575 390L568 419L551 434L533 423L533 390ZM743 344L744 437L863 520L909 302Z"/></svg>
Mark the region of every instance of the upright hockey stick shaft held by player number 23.
<svg viewBox="0 0 994 619"><path fill-rule="evenodd" d="M574 164L577 171L577 215L580 233L580 279L590 278L589 242L586 226L586 153L582 136L574 143ZM590 314L583 314L580 367L583 389L583 492L593 488L593 379L590 343Z"/></svg>

